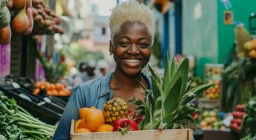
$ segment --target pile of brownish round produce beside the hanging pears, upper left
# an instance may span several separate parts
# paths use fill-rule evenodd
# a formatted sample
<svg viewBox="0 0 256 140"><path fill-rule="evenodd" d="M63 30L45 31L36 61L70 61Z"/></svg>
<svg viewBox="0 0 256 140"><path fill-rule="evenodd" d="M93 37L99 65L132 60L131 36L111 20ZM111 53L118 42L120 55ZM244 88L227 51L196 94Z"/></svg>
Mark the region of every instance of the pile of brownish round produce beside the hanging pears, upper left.
<svg viewBox="0 0 256 140"><path fill-rule="evenodd" d="M33 34L63 34L64 31L60 27L60 18L41 0L32 0L32 15L35 22Z"/></svg>

